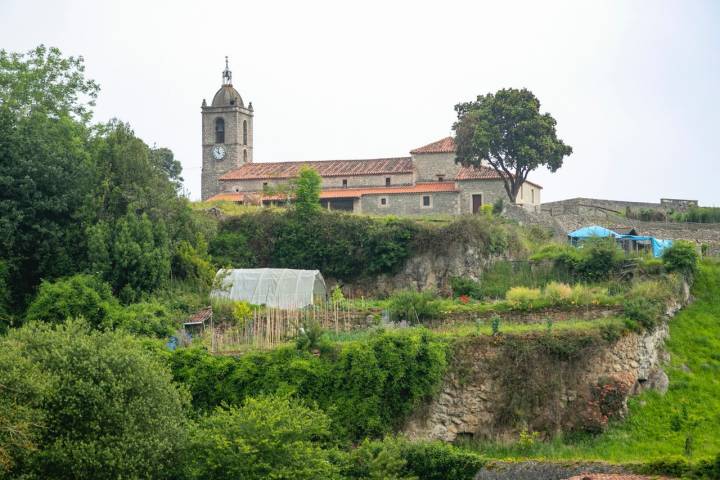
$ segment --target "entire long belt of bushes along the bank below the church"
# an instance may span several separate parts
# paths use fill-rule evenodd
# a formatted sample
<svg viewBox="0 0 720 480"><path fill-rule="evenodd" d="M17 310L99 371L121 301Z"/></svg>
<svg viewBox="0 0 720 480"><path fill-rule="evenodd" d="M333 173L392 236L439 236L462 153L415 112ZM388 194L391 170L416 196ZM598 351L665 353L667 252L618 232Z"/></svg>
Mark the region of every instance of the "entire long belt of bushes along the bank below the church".
<svg viewBox="0 0 720 480"><path fill-rule="evenodd" d="M521 248L516 232L482 217L437 227L410 219L263 210L225 220L210 253L223 266L319 269L352 280L394 273L411 255L429 249L442 254L453 242L476 245L488 255Z"/></svg>

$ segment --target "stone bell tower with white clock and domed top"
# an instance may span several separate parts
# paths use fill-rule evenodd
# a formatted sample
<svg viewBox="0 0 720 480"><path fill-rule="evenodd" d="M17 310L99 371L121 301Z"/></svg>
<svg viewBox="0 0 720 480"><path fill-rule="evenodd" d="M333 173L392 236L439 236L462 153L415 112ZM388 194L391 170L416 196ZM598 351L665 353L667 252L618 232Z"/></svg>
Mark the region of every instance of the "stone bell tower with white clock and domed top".
<svg viewBox="0 0 720 480"><path fill-rule="evenodd" d="M232 85L232 72L225 57L222 86L212 103L203 99L202 115L202 192L207 200L220 193L219 178L253 160L253 108L245 107Z"/></svg>

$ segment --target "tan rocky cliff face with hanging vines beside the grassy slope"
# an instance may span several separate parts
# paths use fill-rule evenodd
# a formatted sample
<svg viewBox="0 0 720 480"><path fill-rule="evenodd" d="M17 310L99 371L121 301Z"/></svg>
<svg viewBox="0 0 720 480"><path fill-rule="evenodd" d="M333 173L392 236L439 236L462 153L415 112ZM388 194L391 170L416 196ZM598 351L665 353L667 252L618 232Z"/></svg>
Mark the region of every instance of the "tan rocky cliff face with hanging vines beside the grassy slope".
<svg viewBox="0 0 720 480"><path fill-rule="evenodd" d="M685 301L687 289L686 298L667 313L674 314ZM556 433L602 427L609 415L626 413L630 395L667 390L662 364L669 318L653 331L625 333L572 356L513 351L542 343L540 336L515 344L500 337L468 339L455 346L441 392L411 416L404 431L411 438L454 441L517 438L521 428ZM510 418L518 411L525 414L519 423Z"/></svg>

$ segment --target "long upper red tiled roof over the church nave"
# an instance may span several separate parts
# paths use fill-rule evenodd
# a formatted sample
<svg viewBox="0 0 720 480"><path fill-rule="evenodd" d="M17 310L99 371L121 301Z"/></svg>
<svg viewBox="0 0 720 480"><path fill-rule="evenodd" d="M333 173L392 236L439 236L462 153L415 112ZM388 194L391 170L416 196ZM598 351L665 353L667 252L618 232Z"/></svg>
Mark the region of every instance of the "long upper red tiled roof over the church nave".
<svg viewBox="0 0 720 480"><path fill-rule="evenodd" d="M312 162L246 163L220 177L220 180L287 179L298 176L301 167L312 167L321 177L353 175L390 175L412 173L410 157L376 158L370 160L320 160Z"/></svg>

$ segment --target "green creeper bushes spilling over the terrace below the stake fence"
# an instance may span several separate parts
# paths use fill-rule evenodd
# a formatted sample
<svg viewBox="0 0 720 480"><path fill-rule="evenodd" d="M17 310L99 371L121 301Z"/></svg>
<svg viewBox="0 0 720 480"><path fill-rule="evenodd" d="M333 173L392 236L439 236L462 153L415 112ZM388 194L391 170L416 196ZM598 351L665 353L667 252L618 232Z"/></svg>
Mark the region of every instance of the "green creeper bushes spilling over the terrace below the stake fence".
<svg viewBox="0 0 720 480"><path fill-rule="evenodd" d="M390 432L435 390L445 371L446 347L427 333L377 333L319 358L283 347L239 358L185 349L170 361L200 410L294 392L317 402L337 436L361 439Z"/></svg>

